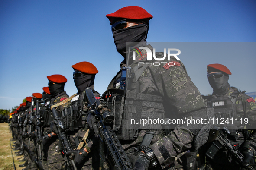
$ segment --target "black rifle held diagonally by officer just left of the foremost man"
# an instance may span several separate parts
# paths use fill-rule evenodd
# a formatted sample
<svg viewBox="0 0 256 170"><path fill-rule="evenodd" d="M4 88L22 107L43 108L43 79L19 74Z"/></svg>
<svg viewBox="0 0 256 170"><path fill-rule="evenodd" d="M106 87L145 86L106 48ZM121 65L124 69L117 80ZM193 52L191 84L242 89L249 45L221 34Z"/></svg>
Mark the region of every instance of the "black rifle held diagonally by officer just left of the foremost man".
<svg viewBox="0 0 256 170"><path fill-rule="evenodd" d="M63 145L63 148L64 148L62 153L66 154L68 151L72 151L73 149L72 149L72 147L70 145L70 142L68 140L67 135L65 134L65 127L63 126L63 123L62 123L60 117L58 117L58 113L57 113L55 107L52 108L52 115L54 117L53 122L58 127L58 137L59 137L59 140L62 142L62 145ZM75 166L74 156L75 156L74 154L71 154L68 157L68 161L71 161L71 164L72 164L74 170L77 170L77 168Z"/></svg>

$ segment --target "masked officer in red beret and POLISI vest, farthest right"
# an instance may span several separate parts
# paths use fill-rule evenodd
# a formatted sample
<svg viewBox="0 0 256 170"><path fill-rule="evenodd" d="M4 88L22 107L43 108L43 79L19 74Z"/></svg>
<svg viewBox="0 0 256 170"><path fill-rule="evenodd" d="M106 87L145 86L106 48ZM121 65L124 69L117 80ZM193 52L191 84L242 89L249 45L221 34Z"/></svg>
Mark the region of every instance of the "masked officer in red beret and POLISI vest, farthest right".
<svg viewBox="0 0 256 170"><path fill-rule="evenodd" d="M215 116L219 120L218 126L226 126L230 135L228 139L236 146L245 156L243 165L248 162L253 163L256 149L256 132L248 130L255 128L256 121L256 104L253 98L247 96L245 91L235 91L228 83L230 70L222 64L209 64L207 66L208 81L213 88L213 94L204 96L204 101L208 107L213 107ZM247 118L249 123L244 120ZM233 123L220 124L221 120L238 120ZM242 121L241 121L242 120ZM224 121L224 122L225 122ZM209 147L209 146L208 146ZM206 170L239 170L238 163L233 159L226 149L221 149L214 156L214 159L206 157ZM254 163L253 163L254 164Z"/></svg>

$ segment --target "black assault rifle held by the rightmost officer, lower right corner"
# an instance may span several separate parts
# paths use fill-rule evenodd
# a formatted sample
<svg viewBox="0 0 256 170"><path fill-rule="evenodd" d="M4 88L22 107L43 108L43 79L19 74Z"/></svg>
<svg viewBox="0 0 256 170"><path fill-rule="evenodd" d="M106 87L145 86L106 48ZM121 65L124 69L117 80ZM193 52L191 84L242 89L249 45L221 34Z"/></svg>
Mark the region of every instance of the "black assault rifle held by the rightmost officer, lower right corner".
<svg viewBox="0 0 256 170"><path fill-rule="evenodd" d="M230 154L237 160L240 166L243 167L243 154L240 151L238 151L238 149L234 145L232 145L232 143L230 143L230 141L227 139L227 135L230 134L229 130L226 127L224 127L223 129L219 129L219 131L220 133L219 135L217 135L217 140L215 140L213 144L210 146L210 148L207 150L206 155L213 159L217 151L224 146L225 148L227 148ZM246 164L246 168L249 170L255 170L250 164L250 162Z"/></svg>

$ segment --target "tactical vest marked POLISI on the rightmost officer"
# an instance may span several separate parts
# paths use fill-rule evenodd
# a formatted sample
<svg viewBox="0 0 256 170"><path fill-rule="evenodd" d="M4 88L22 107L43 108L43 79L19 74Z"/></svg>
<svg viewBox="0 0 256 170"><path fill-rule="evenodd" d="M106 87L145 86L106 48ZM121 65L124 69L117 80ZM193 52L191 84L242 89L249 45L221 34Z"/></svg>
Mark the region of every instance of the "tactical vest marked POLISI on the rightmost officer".
<svg viewBox="0 0 256 170"><path fill-rule="evenodd" d="M207 101L207 107L214 108L219 127L225 126L228 129L235 130L244 128L244 123L242 124L240 121L240 118L243 117L243 105L242 102L237 102L237 96L237 93L233 93L230 96L225 95L223 97L211 98L210 101ZM226 122L227 120L229 123Z"/></svg>

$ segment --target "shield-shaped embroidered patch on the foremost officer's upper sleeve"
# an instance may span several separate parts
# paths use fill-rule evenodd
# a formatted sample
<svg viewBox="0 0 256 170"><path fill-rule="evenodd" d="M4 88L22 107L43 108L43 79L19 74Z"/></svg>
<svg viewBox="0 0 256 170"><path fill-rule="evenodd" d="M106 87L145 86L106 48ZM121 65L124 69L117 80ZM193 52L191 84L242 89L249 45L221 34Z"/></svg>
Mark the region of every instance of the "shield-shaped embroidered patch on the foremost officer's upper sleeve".
<svg viewBox="0 0 256 170"><path fill-rule="evenodd" d="M170 76L172 76L172 83L175 86L183 86L187 82L187 78L180 68L171 71Z"/></svg>

